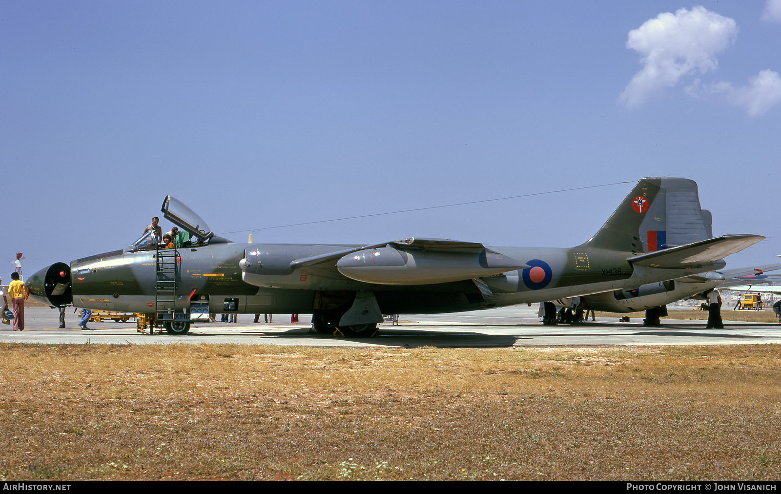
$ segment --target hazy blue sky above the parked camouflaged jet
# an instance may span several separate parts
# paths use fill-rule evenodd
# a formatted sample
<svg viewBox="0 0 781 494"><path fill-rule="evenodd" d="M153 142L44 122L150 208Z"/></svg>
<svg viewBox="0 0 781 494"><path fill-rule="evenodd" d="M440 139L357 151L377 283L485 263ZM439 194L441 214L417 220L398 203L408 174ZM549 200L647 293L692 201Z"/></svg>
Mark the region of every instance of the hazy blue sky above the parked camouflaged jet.
<svg viewBox="0 0 781 494"><path fill-rule="evenodd" d="M647 176L768 237L730 266L781 254L777 0L0 6L0 263L27 276L167 194L224 233ZM631 186L251 233L572 246Z"/></svg>

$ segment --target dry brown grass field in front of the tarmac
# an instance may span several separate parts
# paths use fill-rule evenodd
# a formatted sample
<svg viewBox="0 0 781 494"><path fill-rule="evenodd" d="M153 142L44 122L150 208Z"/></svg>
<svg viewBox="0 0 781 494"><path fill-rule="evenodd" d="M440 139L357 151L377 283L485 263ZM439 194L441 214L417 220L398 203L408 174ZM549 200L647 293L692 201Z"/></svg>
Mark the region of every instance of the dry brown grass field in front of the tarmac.
<svg viewBox="0 0 781 494"><path fill-rule="evenodd" d="M0 345L3 479L777 479L778 345Z"/></svg>

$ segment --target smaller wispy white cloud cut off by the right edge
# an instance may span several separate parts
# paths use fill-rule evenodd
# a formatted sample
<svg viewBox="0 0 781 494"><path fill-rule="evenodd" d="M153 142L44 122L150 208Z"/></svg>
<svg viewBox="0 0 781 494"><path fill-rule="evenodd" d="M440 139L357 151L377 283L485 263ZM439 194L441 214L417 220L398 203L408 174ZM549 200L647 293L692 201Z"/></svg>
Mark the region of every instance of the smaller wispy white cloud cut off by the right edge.
<svg viewBox="0 0 781 494"><path fill-rule="evenodd" d="M773 70L762 70L740 88L729 82L700 84L695 81L687 90L690 94L720 96L730 104L746 109L749 115L760 116L781 102L781 77Z"/></svg>

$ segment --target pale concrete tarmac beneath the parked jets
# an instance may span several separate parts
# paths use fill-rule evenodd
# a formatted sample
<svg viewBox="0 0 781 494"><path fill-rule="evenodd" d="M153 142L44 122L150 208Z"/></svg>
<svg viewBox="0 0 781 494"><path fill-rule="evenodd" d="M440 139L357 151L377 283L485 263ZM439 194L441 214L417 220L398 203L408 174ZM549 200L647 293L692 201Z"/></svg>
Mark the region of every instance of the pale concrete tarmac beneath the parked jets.
<svg viewBox="0 0 781 494"><path fill-rule="evenodd" d="M722 312L723 313L723 312ZM274 314L276 322L254 324L252 314L239 314L237 324L193 324L187 335L169 335L155 330L149 335L137 332L134 320L125 323L89 323L89 331L78 326L73 309L66 310L65 329L59 329L59 312L30 307L25 310L24 331L12 331L0 324L0 342L40 344L217 344L307 345L355 347L491 348L547 345L745 345L781 343L779 324L725 320L724 329L705 329L704 320L662 319L662 326L649 328L642 319L629 323L615 317L596 322L543 326L537 305L511 306L465 313L401 315L400 324L380 324L375 338L339 338L310 332L310 316L301 314L298 324L289 314ZM262 317L261 317L262 320ZM162 331L158 333L158 331Z"/></svg>

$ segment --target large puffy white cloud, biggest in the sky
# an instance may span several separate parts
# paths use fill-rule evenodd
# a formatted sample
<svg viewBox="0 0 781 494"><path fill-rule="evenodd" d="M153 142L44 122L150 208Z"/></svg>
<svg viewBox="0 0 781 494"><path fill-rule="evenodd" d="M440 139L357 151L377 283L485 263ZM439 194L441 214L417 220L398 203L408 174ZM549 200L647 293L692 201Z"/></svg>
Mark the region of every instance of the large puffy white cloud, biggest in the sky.
<svg viewBox="0 0 781 494"><path fill-rule="evenodd" d="M626 48L640 53L643 69L619 96L629 108L641 106L663 88L698 70L715 70L715 55L729 47L737 35L734 20L697 6L675 14L661 13L629 31Z"/></svg>

